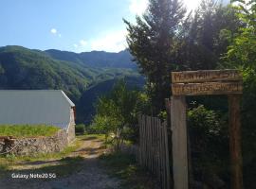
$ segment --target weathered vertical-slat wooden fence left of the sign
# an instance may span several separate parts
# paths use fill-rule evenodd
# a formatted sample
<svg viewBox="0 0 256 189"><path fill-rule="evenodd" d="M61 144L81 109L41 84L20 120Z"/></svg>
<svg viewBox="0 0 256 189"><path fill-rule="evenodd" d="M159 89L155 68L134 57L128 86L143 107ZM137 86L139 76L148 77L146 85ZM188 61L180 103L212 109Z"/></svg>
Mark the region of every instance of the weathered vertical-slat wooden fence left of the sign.
<svg viewBox="0 0 256 189"><path fill-rule="evenodd" d="M162 184L171 188L167 122L147 115L138 116L139 147L137 161L152 171Z"/></svg>

